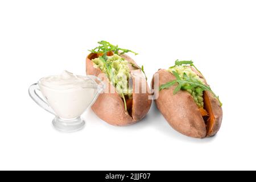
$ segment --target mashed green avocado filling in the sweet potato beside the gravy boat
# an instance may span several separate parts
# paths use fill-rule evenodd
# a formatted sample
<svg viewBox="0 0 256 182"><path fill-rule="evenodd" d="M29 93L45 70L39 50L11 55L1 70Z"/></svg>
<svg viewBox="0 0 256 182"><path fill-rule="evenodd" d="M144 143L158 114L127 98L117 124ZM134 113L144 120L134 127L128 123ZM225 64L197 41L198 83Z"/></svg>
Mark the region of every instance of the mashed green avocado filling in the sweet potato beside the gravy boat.
<svg viewBox="0 0 256 182"><path fill-rule="evenodd" d="M111 80L115 89L121 96L131 98L133 89L129 88L130 70L127 66L128 61L117 54L106 57L107 59L98 57L92 61L97 68L100 68L102 72L108 75L109 80Z"/></svg>

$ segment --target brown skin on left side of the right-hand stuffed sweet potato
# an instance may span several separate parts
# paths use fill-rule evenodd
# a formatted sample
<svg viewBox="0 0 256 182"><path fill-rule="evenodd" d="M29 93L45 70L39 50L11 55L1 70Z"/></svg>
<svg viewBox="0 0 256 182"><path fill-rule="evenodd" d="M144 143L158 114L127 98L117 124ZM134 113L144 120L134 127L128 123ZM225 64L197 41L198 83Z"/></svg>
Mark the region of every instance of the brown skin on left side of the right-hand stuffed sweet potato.
<svg viewBox="0 0 256 182"><path fill-rule="evenodd" d="M156 73L159 74L159 85L175 80L175 76L164 69ZM188 137L204 138L207 131L196 103L186 91L181 90L174 95L175 86L177 85L159 92L159 97L155 100L156 106L176 131ZM152 87L154 87L154 78Z"/></svg>

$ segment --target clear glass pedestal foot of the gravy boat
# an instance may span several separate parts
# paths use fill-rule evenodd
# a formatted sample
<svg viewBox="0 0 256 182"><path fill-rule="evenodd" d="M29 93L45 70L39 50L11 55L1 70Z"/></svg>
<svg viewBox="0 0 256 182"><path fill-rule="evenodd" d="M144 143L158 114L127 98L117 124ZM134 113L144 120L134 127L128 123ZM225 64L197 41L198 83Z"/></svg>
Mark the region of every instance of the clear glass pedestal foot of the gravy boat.
<svg viewBox="0 0 256 182"><path fill-rule="evenodd" d="M56 130L63 132L74 132L83 129L85 126L85 121L81 117L76 119L61 119L59 117L55 117L52 124Z"/></svg>

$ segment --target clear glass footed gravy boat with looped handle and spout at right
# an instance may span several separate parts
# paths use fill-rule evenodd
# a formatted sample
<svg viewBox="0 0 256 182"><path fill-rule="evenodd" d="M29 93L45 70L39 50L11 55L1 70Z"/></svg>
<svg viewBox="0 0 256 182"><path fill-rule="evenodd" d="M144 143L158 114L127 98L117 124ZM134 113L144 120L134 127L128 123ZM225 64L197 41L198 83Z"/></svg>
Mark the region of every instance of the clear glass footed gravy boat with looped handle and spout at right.
<svg viewBox="0 0 256 182"><path fill-rule="evenodd" d="M52 123L55 129L64 132L73 132L84 127L85 121L81 114L92 106L105 84L96 76L83 76L85 84L79 88L50 88L40 80L32 84L28 93L32 100L44 110L55 115ZM42 93L40 97L38 92Z"/></svg>

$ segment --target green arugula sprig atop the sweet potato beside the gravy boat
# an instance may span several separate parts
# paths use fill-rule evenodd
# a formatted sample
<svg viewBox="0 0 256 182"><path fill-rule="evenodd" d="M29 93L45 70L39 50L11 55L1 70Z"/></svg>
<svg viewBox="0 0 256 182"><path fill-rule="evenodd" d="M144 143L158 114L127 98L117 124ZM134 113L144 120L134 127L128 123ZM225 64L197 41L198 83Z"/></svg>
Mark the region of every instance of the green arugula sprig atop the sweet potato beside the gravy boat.
<svg viewBox="0 0 256 182"><path fill-rule="evenodd" d="M98 42L98 44L100 44L100 46L94 49L91 49L89 51L92 53L103 53L103 54L106 54L108 52L114 52L117 55L123 55L124 53L131 52L131 53L134 53L135 55L138 55L138 53L134 51L131 51L129 49L119 48L118 46L114 46L113 44L110 44L105 40L101 40L100 42ZM122 51L122 52L119 52L119 51Z"/></svg>

